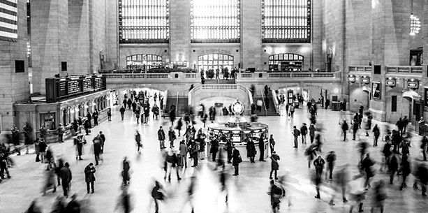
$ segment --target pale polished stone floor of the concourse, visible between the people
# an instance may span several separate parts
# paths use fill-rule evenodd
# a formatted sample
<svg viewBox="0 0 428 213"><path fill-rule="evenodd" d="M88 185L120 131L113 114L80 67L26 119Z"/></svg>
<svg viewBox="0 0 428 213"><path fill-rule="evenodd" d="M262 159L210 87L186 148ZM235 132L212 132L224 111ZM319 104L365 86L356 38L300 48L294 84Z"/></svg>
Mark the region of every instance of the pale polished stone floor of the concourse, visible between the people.
<svg viewBox="0 0 428 213"><path fill-rule="evenodd" d="M91 135L87 136L87 140L91 141L98 131L103 131L107 138L105 154L103 154L104 161L96 167L95 193L86 193L83 172L87 164L94 162L91 146L84 147L83 161L75 161L72 140L50 145L55 156L62 156L71 164L73 172L71 193L78 193L80 200L90 204L91 211L89 212L115 212L121 186L119 172L124 156L127 156L131 162L133 172L130 186L135 207L133 212L154 212L154 203L149 195L154 179L161 181L168 195L168 200L161 203L160 212L191 212L186 189L192 175L198 177L194 196L195 212L271 212L270 196L266 193L269 189L269 159L266 162L256 161L253 164L241 163L238 177L232 176L233 168L228 166L229 205L226 206L224 196L219 193L218 173L213 171L214 163L207 159L200 162L198 169L189 166L189 168L180 170L183 177L181 182L177 182L175 178L172 178L170 184L163 182L161 152L158 149L156 131L160 125L169 126L168 120L150 119L149 124L136 124L131 111L127 110L126 119L121 121L117 110L113 110L112 122L104 122L100 126L94 127ZM349 163L353 174L357 175L359 154L356 145L358 142L353 140L343 142L339 139L338 122L344 116L350 117L350 114L345 115L344 112L331 110L318 111L318 121L323 124L325 138L321 155L325 157L330 150L336 151L337 165ZM217 119L226 120L228 117L218 117ZM334 207L328 205L330 198L328 193L331 190L327 190L327 185L322 187L325 190L321 192L320 200L313 197L316 195L315 187L310 181L313 168L307 168L307 158L304 156L304 147L307 145L300 143L298 149L293 149L291 129L293 125L300 126L302 122L309 124L307 110L297 109L294 119L291 120L286 116L260 117L259 122L269 124L270 133L276 138L276 152L281 156L279 175L289 172L295 179L290 190L287 191L288 196L292 197L293 205L287 207L286 201L284 201L280 212L348 212L350 204L341 203L339 194L337 194L336 205ZM197 128L202 127L201 122L198 122L196 126ZM136 151L133 139L135 130L142 133L144 145L142 154L138 154ZM167 130L168 128L165 128L165 132ZM350 135L348 138L350 139ZM362 136L361 138L370 143L372 141L371 137ZM422 155L418 149L419 144L420 138L415 136L411 148L413 159L420 159ZM383 142L380 142L378 147L369 149L377 162L381 162L382 148ZM61 186L57 193L50 192L47 193L47 196L42 196L45 164L34 162L34 154L13 156L13 159L17 165L10 168L12 179L6 179L0 184L0 212L24 212L34 198L39 199L43 212L50 212L54 198L62 193ZM377 163L375 167L379 168L379 165L380 163ZM388 181L388 175L378 172L374 181L378 179ZM412 175L408 179L410 186L411 182L413 182ZM399 183L396 180L393 185L388 184L387 192L385 212L428 212L427 198L422 198L420 190L415 191L412 187L408 187L399 191ZM372 189L367 193L368 198L364 202L365 212L369 212L373 194Z"/></svg>

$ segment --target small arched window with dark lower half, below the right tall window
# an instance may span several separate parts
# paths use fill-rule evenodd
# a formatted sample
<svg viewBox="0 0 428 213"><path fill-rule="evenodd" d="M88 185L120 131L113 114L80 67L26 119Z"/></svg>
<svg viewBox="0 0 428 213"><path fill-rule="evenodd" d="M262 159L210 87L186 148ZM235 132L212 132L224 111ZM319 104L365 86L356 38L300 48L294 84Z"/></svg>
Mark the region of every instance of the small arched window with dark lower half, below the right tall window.
<svg viewBox="0 0 428 213"><path fill-rule="evenodd" d="M293 53L272 54L269 56L269 71L302 71L303 56Z"/></svg>

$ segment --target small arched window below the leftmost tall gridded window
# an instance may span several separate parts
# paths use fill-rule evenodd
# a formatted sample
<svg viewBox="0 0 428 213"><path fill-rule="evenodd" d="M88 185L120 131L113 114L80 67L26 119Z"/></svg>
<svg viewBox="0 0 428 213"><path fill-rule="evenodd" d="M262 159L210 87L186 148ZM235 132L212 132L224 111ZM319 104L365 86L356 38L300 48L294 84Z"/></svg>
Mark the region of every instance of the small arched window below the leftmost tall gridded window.
<svg viewBox="0 0 428 213"><path fill-rule="evenodd" d="M161 66L162 57L156 54L134 54L126 57L127 69L148 70Z"/></svg>

